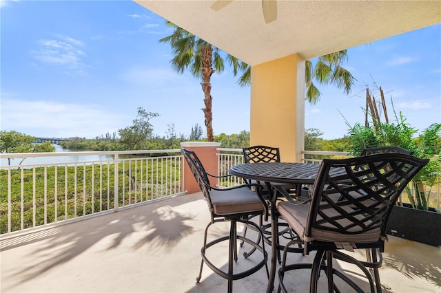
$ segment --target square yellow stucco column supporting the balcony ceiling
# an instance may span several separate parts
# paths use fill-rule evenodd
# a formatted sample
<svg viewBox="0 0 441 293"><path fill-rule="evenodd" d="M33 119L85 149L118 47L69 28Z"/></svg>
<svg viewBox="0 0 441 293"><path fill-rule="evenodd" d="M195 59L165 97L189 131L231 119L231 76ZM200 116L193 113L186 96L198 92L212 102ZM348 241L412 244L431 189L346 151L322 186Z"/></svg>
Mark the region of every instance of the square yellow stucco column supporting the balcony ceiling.
<svg viewBox="0 0 441 293"><path fill-rule="evenodd" d="M300 162L305 145L305 60L292 54L251 68L250 144Z"/></svg>

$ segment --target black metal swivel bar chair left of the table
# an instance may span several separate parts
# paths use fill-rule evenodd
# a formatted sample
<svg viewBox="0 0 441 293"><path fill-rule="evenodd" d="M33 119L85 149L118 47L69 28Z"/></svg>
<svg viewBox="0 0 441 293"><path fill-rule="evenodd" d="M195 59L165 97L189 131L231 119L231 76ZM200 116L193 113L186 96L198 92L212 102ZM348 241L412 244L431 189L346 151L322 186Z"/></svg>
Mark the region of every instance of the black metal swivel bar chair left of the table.
<svg viewBox="0 0 441 293"><path fill-rule="evenodd" d="M203 164L199 160L198 156L194 151L190 151L187 149L181 149L181 153L183 154L189 169L192 171L196 182L198 183L201 191L207 199L208 209L211 214L211 221L205 228L205 236L204 236L204 244L201 249L201 270L199 271L199 276L196 278L196 283L201 281L202 269L204 263L206 263L209 268L211 268L216 274L228 280L228 292L232 292L233 290L233 281L237 279L245 278L254 272L260 270L265 266L267 270L267 275L269 275L268 267L267 267L267 259L268 255L265 251L265 241L262 241L262 246L259 245L260 241L252 241L251 239L247 239L246 237L240 236L237 234L237 226L236 224L243 223L247 226L254 227L260 237L259 239L263 239L262 231L260 227L249 221L248 218L250 215L263 215L266 213L267 207L265 206L265 202L263 199L256 193L260 192L260 185L258 184L245 184L240 186L234 186L231 188L217 188L216 186L210 185L209 177L225 177L225 176L216 176L210 175L205 172ZM251 186L256 187L256 191L251 190ZM212 226L212 224L216 224L219 222L230 222L230 230L229 235L218 237L207 243L207 234L208 228ZM261 261L256 265L252 265L248 270L235 272L234 270L234 262L238 260L237 257L237 240L245 241L252 248L261 252L262 257ZM229 251L228 251L228 271L225 272L221 268L216 267L212 261L207 257L206 251L208 248L216 245L217 243L229 241Z"/></svg>

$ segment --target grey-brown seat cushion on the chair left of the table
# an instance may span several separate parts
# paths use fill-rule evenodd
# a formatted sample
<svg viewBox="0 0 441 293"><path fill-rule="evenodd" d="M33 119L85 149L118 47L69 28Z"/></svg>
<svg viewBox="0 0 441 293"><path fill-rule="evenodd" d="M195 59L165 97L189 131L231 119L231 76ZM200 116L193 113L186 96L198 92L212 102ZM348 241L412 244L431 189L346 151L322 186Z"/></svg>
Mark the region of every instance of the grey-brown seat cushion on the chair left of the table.
<svg viewBox="0 0 441 293"><path fill-rule="evenodd" d="M256 192L248 187L228 191L210 191L212 206L216 215L256 213L265 209Z"/></svg>

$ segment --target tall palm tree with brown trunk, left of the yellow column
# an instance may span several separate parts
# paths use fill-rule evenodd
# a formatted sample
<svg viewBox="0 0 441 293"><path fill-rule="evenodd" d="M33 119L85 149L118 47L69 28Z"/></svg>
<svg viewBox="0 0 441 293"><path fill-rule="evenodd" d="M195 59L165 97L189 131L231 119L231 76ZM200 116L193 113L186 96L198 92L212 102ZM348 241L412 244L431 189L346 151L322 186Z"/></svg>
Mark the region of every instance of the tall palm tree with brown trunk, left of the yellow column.
<svg viewBox="0 0 441 293"><path fill-rule="evenodd" d="M173 28L173 33L160 39L161 43L170 43L174 57L170 61L172 68L183 74L185 69L189 69L195 78L201 78L201 86L204 92L205 108L202 109L205 116L205 127L207 128L207 140L214 141L213 135L213 113L212 113L212 85L210 80L212 74L223 72L225 69L224 59L220 56L220 50L213 47L203 39L199 39L194 34L190 34L183 28L179 28L174 23L166 21L167 25ZM247 66L234 56L227 54L227 60L233 67L233 73L236 75L238 70L243 70Z"/></svg>

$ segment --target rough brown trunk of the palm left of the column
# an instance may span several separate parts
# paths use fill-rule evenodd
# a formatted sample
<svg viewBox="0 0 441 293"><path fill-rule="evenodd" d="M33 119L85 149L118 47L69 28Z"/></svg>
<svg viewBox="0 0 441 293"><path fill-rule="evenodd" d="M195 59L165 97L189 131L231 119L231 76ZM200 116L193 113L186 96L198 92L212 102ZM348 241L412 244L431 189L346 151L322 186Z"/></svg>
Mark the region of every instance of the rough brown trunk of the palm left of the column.
<svg viewBox="0 0 441 293"><path fill-rule="evenodd" d="M205 115L205 127L207 128L207 140L209 142L214 141L213 137L213 113L212 113L212 85L210 79L214 73L212 67L213 63L213 48L211 45L207 45L201 50L201 63L202 63L202 90L204 91L204 104L205 108L202 109Z"/></svg>

